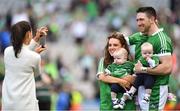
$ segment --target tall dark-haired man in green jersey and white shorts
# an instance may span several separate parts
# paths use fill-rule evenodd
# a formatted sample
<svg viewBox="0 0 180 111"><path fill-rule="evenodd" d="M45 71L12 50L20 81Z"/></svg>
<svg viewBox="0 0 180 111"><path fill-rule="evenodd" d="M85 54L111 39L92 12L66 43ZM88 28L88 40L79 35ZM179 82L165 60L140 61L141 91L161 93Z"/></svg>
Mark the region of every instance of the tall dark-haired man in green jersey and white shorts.
<svg viewBox="0 0 180 111"><path fill-rule="evenodd" d="M140 45L149 42L153 45L154 54L159 56L160 64L156 68L143 68L138 62L135 64L136 73L149 73L155 75L155 84L152 88L150 102L144 104L139 102L141 110L163 110L168 96L169 75L172 70L172 43L163 29L157 26L157 15L153 7L140 7L136 15L137 32L128 38L130 45L135 45L135 61L141 56ZM145 89L138 89L138 101L143 99Z"/></svg>

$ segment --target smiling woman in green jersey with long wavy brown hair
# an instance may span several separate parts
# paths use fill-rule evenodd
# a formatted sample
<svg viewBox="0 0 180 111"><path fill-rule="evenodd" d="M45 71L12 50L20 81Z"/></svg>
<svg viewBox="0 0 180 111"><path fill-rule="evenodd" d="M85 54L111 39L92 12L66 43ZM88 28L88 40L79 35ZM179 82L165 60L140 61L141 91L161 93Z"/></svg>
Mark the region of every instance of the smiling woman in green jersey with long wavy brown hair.
<svg viewBox="0 0 180 111"><path fill-rule="evenodd" d="M105 46L104 57L99 61L97 72L97 78L100 85L100 110L113 110L111 101L111 89L109 83L118 83L123 88L129 88L130 83L132 83L132 81L134 80L134 77L132 77L131 75L124 78L115 78L104 73L105 68L107 68L109 64L113 63L113 53L120 48L125 48L129 52L128 45L126 43L126 40L124 39L124 36L119 32L110 34ZM125 92L125 90L123 92ZM123 92L118 94L119 98L122 96ZM135 109L136 107L134 100L128 101L126 107L124 108L124 110Z"/></svg>

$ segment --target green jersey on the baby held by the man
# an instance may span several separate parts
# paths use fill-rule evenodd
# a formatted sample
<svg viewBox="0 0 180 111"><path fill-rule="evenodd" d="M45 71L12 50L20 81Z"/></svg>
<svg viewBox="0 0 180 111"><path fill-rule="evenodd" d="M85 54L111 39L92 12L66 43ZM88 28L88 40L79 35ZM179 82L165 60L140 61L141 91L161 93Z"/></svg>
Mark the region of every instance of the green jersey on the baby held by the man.
<svg viewBox="0 0 180 111"><path fill-rule="evenodd" d="M151 59L155 61L155 66L157 66L160 62L158 56L153 55ZM139 58L139 60L144 67L149 67L149 63L142 56Z"/></svg>

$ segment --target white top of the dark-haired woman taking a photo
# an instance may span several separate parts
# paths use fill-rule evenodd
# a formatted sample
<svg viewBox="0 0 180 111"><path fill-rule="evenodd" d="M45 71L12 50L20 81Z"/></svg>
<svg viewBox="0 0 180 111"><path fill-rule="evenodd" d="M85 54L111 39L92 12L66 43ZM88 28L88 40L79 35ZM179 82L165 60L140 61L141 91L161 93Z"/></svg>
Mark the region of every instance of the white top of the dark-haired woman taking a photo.
<svg viewBox="0 0 180 111"><path fill-rule="evenodd" d="M18 58L12 46L5 49L5 78L2 86L2 109L39 110L36 99L35 74L40 74L41 57L23 45Z"/></svg>

